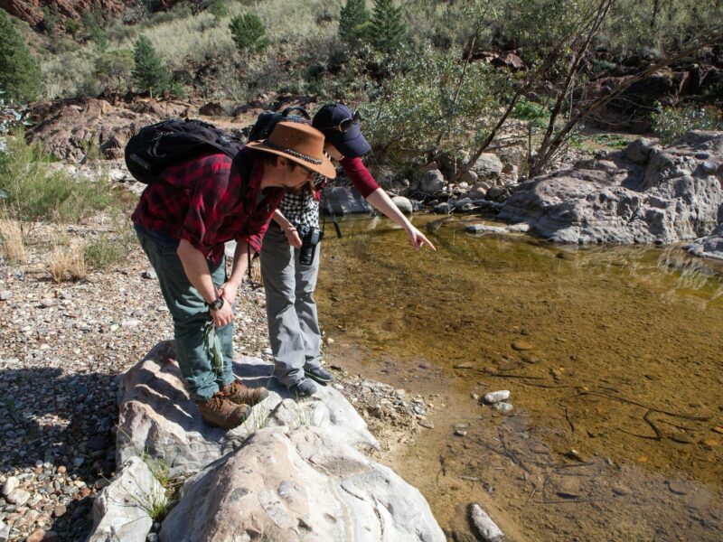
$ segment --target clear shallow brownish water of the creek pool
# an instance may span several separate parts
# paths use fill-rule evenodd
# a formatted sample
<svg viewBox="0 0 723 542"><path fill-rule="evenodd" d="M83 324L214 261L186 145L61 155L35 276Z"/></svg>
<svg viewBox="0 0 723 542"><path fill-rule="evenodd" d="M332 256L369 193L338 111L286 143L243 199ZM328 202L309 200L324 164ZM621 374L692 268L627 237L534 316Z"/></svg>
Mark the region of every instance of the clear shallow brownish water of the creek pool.
<svg viewBox="0 0 723 542"><path fill-rule="evenodd" d="M386 220L324 242L327 360L440 394L435 427L389 463L458 534L477 501L518 540L720 540L720 269L679 248L466 234L476 221L433 227L434 254ZM512 416L472 397L493 389Z"/></svg>

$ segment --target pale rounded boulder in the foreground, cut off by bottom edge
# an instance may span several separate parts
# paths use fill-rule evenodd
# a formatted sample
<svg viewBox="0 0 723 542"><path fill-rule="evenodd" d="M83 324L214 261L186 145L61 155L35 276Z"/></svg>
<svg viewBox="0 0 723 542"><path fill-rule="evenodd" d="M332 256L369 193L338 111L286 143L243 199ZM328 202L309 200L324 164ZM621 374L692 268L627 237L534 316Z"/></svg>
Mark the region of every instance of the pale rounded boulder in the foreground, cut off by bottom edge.
<svg viewBox="0 0 723 542"><path fill-rule="evenodd" d="M186 483L162 542L444 542L418 490L325 428L268 428Z"/></svg>

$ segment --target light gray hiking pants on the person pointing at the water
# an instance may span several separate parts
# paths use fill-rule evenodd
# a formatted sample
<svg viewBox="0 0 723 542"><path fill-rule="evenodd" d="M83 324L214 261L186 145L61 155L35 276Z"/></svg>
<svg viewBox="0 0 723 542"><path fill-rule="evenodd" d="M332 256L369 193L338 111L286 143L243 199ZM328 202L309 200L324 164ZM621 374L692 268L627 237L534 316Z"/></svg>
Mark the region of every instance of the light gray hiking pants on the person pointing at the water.
<svg viewBox="0 0 723 542"><path fill-rule="evenodd" d="M299 264L284 231L271 222L261 247L261 276L266 289L268 340L274 354L274 375L284 386L304 378L305 367L318 367L321 332L314 289L321 244L311 266Z"/></svg>

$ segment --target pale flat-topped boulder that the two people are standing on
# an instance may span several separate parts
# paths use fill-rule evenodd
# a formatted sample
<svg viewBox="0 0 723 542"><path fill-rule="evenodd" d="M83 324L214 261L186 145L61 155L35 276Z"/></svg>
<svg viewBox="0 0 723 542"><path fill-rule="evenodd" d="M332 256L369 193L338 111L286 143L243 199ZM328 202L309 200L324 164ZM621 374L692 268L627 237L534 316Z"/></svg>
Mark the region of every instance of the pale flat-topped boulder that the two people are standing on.
<svg viewBox="0 0 723 542"><path fill-rule="evenodd" d="M224 431L203 422L183 388L173 341L160 342L119 379L117 463L146 453L167 465L171 476L195 473L237 449L259 427L309 423L329 428L345 444L379 447L337 389L319 386L315 396L296 402L271 377L272 370L273 365L258 358L245 357L234 364L246 385L265 386L269 396L254 406L243 425Z"/></svg>

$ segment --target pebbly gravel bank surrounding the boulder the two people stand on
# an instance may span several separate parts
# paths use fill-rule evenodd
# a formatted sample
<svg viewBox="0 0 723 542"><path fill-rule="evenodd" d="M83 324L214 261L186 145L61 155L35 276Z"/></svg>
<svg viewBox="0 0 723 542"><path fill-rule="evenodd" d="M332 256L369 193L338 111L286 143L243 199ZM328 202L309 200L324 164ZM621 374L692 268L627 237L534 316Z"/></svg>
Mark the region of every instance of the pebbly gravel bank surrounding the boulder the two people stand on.
<svg viewBox="0 0 723 542"><path fill-rule="evenodd" d="M108 229L99 218L67 232L71 242ZM28 262L0 269L0 540L83 540L91 505L116 472L117 375L172 337L170 317L145 256L55 284L46 244L56 232L36 224ZM268 360L262 289L245 285L237 348ZM380 450L419 430L426 397L335 367L337 393L369 422Z"/></svg>

